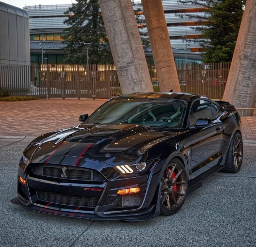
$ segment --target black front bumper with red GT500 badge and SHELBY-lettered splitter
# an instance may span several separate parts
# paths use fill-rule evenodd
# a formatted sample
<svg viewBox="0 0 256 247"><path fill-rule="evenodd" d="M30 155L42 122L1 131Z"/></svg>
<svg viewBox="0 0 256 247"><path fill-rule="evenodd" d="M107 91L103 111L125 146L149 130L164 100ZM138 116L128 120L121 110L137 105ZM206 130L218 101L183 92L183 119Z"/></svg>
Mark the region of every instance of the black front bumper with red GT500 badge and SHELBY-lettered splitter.
<svg viewBox="0 0 256 247"><path fill-rule="evenodd" d="M25 178L26 186L18 181L18 196L12 199L11 202L24 207L26 210L75 218L146 220L160 214L158 202L160 193L159 176L157 173L154 174L155 167L156 165L142 176L121 179L106 178L105 181L95 182L96 184L92 182L84 184L81 181L71 183L59 179L52 181L55 179L47 180L42 177L33 177L31 176L30 167L23 170L24 164L20 164L18 176ZM101 166L99 165L98 168L100 170ZM130 197L114 193L117 189L134 186L141 187L142 191L138 194L130 194ZM68 197L71 203L63 202L64 196ZM89 205L90 197L93 198L91 205ZM123 199L124 197L126 199ZM136 204L137 197L140 201ZM83 201L81 201L81 198L83 198ZM129 200L131 200L132 205L129 205ZM80 205L80 203L83 205Z"/></svg>

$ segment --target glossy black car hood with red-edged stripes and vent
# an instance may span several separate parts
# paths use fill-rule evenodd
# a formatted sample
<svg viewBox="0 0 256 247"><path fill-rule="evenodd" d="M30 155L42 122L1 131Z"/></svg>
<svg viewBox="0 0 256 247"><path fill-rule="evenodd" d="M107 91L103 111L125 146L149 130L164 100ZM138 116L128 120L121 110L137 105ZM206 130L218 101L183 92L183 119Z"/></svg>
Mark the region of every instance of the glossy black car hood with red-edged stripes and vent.
<svg viewBox="0 0 256 247"><path fill-rule="evenodd" d="M60 164L90 159L111 165L139 162L146 151L177 132L159 131L141 125L81 124L32 142L24 151L26 157L43 156L41 162ZM70 158L68 158L70 157ZM145 160L145 159L144 159Z"/></svg>

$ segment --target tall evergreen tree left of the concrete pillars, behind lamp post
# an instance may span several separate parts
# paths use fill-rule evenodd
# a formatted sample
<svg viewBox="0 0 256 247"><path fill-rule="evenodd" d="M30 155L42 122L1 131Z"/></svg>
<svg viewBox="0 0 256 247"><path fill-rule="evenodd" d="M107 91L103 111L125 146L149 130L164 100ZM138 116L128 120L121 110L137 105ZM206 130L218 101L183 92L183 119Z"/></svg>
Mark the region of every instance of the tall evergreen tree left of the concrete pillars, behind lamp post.
<svg viewBox="0 0 256 247"><path fill-rule="evenodd" d="M69 18L64 21L66 28L64 48L65 62L71 64L86 63L86 47L89 47L90 64L113 63L106 30L97 0L77 0L65 12Z"/></svg>

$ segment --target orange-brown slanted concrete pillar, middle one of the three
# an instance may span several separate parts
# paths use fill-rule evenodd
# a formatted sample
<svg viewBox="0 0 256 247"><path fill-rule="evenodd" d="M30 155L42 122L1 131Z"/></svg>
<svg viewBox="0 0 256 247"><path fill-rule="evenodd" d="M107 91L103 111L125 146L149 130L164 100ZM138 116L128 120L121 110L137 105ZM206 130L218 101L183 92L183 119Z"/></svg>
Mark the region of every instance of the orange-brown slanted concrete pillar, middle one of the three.
<svg viewBox="0 0 256 247"><path fill-rule="evenodd" d="M142 0L161 92L180 92L173 51L161 0Z"/></svg>

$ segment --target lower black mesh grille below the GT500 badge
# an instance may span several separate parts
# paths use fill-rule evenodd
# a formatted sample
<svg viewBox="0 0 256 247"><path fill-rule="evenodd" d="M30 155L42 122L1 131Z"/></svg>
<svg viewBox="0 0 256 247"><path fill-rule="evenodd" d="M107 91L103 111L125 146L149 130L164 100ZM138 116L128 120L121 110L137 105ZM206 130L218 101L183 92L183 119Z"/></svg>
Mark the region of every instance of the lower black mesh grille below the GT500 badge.
<svg viewBox="0 0 256 247"><path fill-rule="evenodd" d="M80 207L96 207L99 202L99 197L63 195L40 190L37 190L37 198L40 201Z"/></svg>

